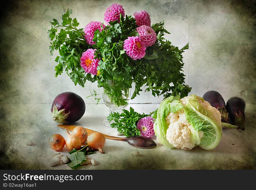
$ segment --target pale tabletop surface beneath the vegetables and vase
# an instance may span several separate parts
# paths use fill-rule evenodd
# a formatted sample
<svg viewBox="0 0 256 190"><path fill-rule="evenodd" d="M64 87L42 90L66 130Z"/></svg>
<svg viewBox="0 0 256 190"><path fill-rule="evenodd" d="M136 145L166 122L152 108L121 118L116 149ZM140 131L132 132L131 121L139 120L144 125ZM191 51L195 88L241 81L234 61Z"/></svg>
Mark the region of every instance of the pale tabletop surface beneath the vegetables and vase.
<svg viewBox="0 0 256 190"><path fill-rule="evenodd" d="M159 104L130 104L137 112L154 111ZM129 108L129 106L127 108ZM56 152L50 149L48 139L51 134L59 133L64 137L65 130L57 127L50 115L51 104L10 104L8 108L0 104L6 115L15 117L13 109L20 113L22 119L11 120L6 118L1 133L1 142L6 147L6 160L1 163L5 169L70 169L67 164L49 166L49 159ZM249 107L250 108L250 107ZM87 104L83 117L74 125L81 125L88 129L108 135L118 136L115 128L103 125L108 115L108 108L104 104ZM248 115L250 118L250 115ZM2 122L2 121L1 121ZM240 133L236 129L223 129L220 144L211 151L195 147L190 151L181 149L167 149L157 142L154 149L139 149L126 142L108 140L103 147L105 154L88 155L88 158L98 162L96 166L84 165L78 169L255 169L255 126L246 122L246 130ZM15 138L13 138L15 133ZM33 145L26 145L32 141ZM138 151L138 156L132 155ZM61 154L68 155L66 147Z"/></svg>

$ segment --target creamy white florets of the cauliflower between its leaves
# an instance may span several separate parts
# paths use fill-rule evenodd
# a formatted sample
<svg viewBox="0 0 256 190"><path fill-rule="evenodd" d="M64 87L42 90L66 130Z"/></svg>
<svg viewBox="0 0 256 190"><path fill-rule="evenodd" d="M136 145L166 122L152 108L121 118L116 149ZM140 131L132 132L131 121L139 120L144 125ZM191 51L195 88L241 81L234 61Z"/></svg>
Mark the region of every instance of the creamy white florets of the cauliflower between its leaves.
<svg viewBox="0 0 256 190"><path fill-rule="evenodd" d="M186 120L184 111L181 109L176 113L170 112L166 117L169 128L166 131L166 139L177 149L191 150L195 142L190 140L193 127Z"/></svg>

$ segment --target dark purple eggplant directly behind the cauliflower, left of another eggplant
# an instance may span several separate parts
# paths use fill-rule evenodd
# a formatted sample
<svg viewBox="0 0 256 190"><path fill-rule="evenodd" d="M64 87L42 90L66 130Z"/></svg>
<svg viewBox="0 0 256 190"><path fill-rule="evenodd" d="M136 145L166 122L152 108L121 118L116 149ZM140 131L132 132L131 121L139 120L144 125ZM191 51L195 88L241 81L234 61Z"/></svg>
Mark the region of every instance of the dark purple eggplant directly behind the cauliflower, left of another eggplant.
<svg viewBox="0 0 256 190"><path fill-rule="evenodd" d="M221 113L221 122L228 123L228 112L226 109L225 101L220 93L217 91L207 91L203 98L205 101L209 102L211 106L218 109L218 111Z"/></svg>

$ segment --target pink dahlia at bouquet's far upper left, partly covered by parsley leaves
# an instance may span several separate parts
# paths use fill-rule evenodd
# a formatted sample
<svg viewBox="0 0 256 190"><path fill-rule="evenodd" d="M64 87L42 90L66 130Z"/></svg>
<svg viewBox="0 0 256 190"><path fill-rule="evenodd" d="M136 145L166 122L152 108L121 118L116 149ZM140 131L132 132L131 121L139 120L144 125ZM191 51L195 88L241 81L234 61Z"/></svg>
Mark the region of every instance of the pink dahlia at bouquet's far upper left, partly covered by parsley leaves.
<svg viewBox="0 0 256 190"><path fill-rule="evenodd" d="M101 28L102 26L102 28ZM97 22L97 21L91 21L90 23L88 23L85 28L83 29L83 32L85 33L84 37L87 41L88 44L93 45L95 44L95 41L93 41L93 36L94 36L94 32L95 30L99 29L99 31L101 32L106 26L104 24L102 24L101 22Z"/></svg>

